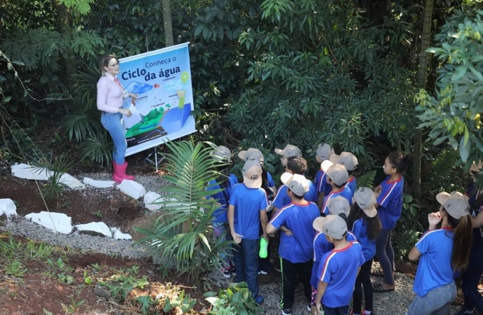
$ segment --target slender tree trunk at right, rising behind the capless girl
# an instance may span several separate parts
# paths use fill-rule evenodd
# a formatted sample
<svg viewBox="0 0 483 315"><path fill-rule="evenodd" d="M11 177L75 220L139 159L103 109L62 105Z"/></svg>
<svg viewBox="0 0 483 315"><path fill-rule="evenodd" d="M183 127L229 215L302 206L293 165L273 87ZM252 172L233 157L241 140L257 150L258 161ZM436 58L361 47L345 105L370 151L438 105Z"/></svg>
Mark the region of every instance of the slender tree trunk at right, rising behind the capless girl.
<svg viewBox="0 0 483 315"><path fill-rule="evenodd" d="M419 69L418 69L418 87L423 89L426 87L426 71L428 68L428 53L426 49L429 48L431 40L431 25L433 24L433 1L424 1L424 16L423 16L423 34L421 36L421 52L419 54ZM413 197L416 200L421 199L421 155L423 147L423 131L416 130L414 135L414 169L413 169Z"/></svg>

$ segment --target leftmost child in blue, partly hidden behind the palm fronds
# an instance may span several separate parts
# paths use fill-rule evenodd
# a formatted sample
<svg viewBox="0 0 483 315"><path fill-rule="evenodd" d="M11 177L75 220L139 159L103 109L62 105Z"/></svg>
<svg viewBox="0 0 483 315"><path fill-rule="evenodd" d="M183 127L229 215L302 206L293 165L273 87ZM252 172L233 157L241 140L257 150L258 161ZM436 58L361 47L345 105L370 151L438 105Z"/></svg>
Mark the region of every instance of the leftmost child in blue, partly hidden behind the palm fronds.
<svg viewBox="0 0 483 315"><path fill-rule="evenodd" d="M213 213L213 233L217 239L223 238L224 241L230 236L228 233L228 201L230 200L230 195L232 192L232 187L238 183L237 176L235 174L228 173L230 169L230 160L232 153L230 149L225 146L217 146L214 151L211 151L211 155L218 161L225 163L221 167L218 167L218 172L220 176L218 179L213 179L208 183L207 190L221 190L218 193L212 195L214 200L218 201L220 207L216 209ZM227 231L225 233L225 231ZM232 276L232 262L230 261L230 256L232 251L228 249L226 253L221 253L221 267L220 272L225 276L225 278L230 278Z"/></svg>

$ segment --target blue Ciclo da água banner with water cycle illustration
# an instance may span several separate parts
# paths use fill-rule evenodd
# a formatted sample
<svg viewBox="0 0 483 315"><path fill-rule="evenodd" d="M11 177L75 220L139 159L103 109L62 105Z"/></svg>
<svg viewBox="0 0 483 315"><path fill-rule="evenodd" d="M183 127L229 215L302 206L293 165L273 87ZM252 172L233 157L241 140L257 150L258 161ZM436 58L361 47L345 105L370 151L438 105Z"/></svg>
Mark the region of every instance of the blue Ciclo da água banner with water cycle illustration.
<svg viewBox="0 0 483 315"><path fill-rule="evenodd" d="M196 132L188 43L120 59L125 99L126 156Z"/></svg>

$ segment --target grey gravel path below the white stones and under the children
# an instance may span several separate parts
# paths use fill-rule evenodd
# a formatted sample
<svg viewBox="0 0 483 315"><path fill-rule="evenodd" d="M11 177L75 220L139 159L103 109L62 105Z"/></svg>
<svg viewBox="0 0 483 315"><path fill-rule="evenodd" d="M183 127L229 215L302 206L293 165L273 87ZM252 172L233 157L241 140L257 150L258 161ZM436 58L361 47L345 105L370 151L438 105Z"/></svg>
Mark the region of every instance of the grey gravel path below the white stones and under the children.
<svg viewBox="0 0 483 315"><path fill-rule="evenodd" d="M92 179L109 180L110 174L83 174L78 176L80 180L83 177L90 177ZM158 192L159 188L166 185L159 176L137 176L136 181L141 183L146 188L146 192ZM78 248L87 251L96 251L106 255L121 255L126 258L147 258L148 253L142 246L133 246L130 241L116 241L114 239L106 239L103 237L92 237L90 235L62 235L50 232L39 225L30 223L25 219L18 218L9 220L6 224L0 222L0 230L8 230L14 235L22 235L32 239L37 239L51 245L70 246L71 248ZM379 264L374 262L373 268L379 268ZM268 284L260 285L260 294L265 297L265 302L262 307L265 309L265 314L275 315L280 314L276 303L281 295L281 276L279 272L271 271L268 276L271 276L273 281ZM260 282L264 283L266 279L259 276ZM211 281L221 287L228 286L229 280L225 279L219 272L211 272L209 274ZM381 281L382 278L374 277L372 281ZM374 293L374 311L377 315L394 315L405 314L407 307L414 297L412 292L413 280L405 274L398 274L395 279L396 290L391 293ZM302 294L302 287L299 286L295 293L295 304L292 314L309 314L307 311L307 303L304 302ZM451 310L453 314L456 309Z"/></svg>

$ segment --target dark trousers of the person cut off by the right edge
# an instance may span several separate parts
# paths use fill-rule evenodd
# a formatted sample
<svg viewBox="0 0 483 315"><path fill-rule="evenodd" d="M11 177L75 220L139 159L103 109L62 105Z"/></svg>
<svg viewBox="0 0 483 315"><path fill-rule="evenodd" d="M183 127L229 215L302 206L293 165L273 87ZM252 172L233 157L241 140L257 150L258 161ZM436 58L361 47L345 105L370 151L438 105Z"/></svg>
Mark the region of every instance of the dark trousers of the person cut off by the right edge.
<svg viewBox="0 0 483 315"><path fill-rule="evenodd" d="M470 251L468 268L463 272L463 296L465 298L464 309L468 311L476 309L478 314L483 314L483 297L478 292L478 283L483 274L483 238L478 229L473 229L473 243Z"/></svg>

